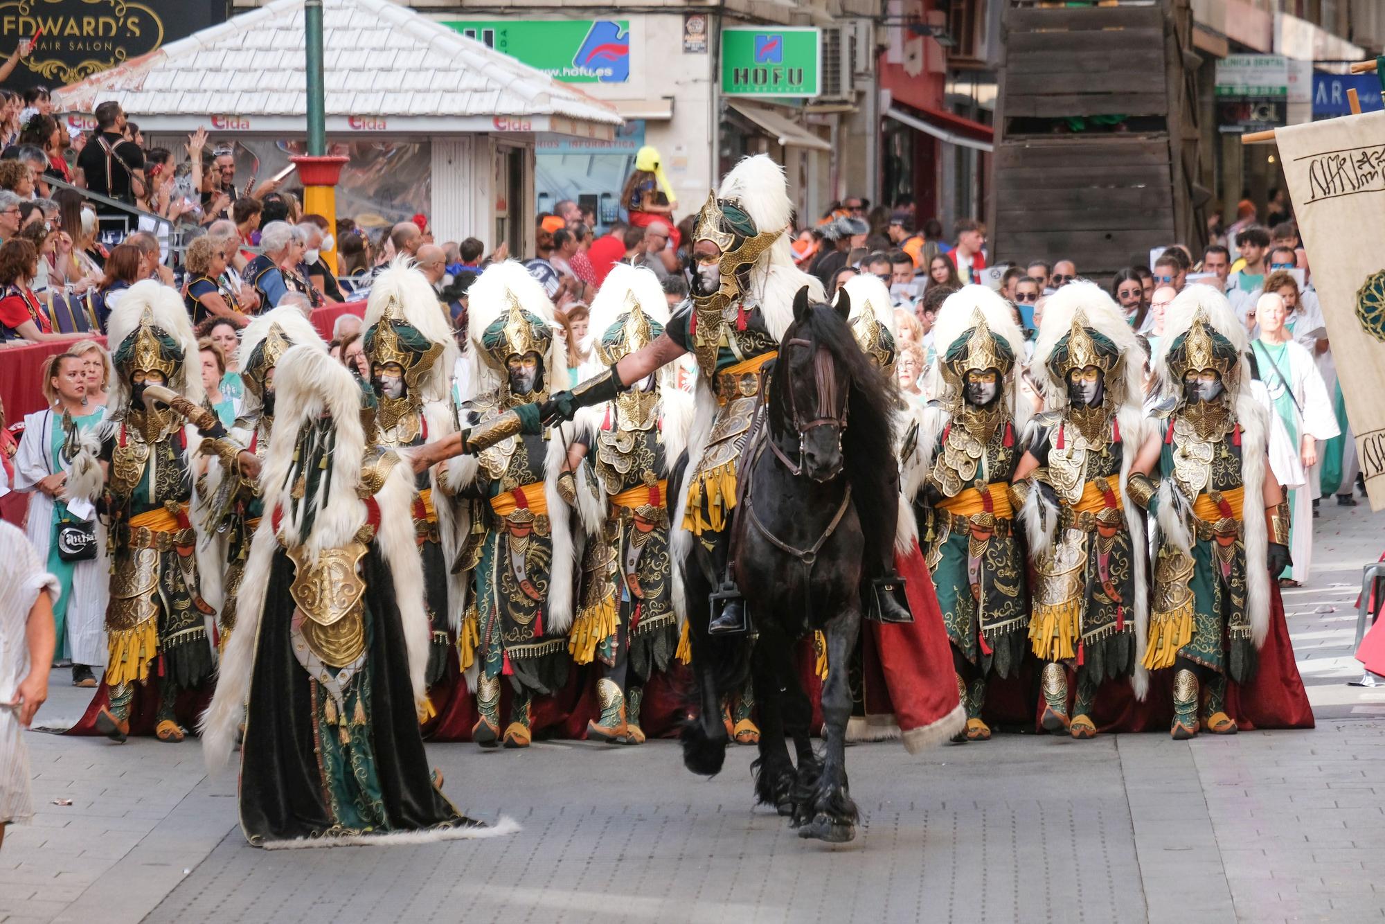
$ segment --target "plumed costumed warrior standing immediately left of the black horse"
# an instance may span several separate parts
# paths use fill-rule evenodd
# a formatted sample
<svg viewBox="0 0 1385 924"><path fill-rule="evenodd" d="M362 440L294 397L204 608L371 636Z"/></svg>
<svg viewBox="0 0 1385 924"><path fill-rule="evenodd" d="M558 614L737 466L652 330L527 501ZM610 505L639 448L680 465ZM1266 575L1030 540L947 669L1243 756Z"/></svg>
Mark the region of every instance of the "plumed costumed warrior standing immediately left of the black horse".
<svg viewBox="0 0 1385 924"><path fill-rule="evenodd" d="M669 320L654 273L616 265L591 302L593 357L601 366L651 344ZM587 533L582 593L569 636L575 664L600 661L601 713L587 737L643 744L645 682L679 644L669 554L668 475L687 445L691 396L665 366L608 405L576 418L558 493Z"/></svg>

